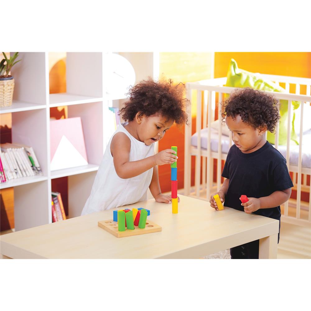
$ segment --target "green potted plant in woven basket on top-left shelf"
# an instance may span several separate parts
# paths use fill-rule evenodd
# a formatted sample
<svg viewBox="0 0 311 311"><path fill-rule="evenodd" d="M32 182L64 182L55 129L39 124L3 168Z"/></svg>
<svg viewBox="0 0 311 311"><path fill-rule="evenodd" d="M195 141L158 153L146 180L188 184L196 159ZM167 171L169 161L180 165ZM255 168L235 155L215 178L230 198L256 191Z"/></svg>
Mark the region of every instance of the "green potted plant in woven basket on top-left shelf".
<svg viewBox="0 0 311 311"><path fill-rule="evenodd" d="M0 107L7 107L12 105L14 90L14 78L9 73L12 67L21 61L21 59L14 62L18 57L18 52L9 59L4 52L2 54L4 59L0 62Z"/></svg>

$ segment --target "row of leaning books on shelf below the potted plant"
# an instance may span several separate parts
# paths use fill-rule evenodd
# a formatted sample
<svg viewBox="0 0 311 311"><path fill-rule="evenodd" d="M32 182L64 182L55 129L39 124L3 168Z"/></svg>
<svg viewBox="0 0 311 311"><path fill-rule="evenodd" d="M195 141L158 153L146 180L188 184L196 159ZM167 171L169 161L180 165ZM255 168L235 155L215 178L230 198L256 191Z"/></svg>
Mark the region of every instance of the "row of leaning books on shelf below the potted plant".
<svg viewBox="0 0 311 311"><path fill-rule="evenodd" d="M10 179L42 175L32 147L23 144L0 144L1 183Z"/></svg>

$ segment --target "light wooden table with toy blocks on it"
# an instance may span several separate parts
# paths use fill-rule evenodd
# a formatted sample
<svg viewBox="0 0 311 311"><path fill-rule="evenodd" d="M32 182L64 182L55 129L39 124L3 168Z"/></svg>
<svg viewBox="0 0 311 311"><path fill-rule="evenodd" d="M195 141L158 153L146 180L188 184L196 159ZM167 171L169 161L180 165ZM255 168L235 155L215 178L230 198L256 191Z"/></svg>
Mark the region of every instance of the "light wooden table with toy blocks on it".
<svg viewBox="0 0 311 311"><path fill-rule="evenodd" d="M199 258L257 239L259 258L276 258L278 220L179 197L178 214L154 199L127 206L149 209L161 232L117 238L97 225L113 210L101 211L2 235L2 258Z"/></svg>

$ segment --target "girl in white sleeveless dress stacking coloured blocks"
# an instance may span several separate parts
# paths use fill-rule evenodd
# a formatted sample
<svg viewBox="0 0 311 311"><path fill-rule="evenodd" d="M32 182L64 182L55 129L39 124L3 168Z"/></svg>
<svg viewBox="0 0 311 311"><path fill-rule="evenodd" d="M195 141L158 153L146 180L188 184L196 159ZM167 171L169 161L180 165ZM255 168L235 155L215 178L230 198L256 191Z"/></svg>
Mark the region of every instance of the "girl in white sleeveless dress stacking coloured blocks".
<svg viewBox="0 0 311 311"><path fill-rule="evenodd" d="M148 188L156 202L172 202L161 193L157 165L172 164L178 157L172 149L154 154L154 143L174 122L187 122L184 85L149 78L128 94L120 110L125 122L109 140L81 215L144 201Z"/></svg>

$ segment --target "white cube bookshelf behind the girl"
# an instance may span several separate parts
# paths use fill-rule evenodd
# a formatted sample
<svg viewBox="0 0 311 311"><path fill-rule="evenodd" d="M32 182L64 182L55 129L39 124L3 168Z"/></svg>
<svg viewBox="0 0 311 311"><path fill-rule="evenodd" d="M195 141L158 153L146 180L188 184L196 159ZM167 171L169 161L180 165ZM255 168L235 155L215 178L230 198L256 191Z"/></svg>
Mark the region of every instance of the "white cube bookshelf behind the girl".
<svg viewBox="0 0 311 311"><path fill-rule="evenodd" d="M19 54L22 61L11 72L15 78L13 104L1 107L0 114L12 113L12 143L33 147L43 175L0 184L0 189L14 187L16 231L52 222L51 180L56 178L68 176L69 218L80 216L110 138L106 112L109 106L120 108L124 102L105 93L107 53L67 53L67 92L60 94L49 94L47 52ZM132 63L137 81L159 76L158 53L119 54ZM50 108L58 106L68 106L68 118L81 117L88 165L50 171Z"/></svg>

